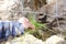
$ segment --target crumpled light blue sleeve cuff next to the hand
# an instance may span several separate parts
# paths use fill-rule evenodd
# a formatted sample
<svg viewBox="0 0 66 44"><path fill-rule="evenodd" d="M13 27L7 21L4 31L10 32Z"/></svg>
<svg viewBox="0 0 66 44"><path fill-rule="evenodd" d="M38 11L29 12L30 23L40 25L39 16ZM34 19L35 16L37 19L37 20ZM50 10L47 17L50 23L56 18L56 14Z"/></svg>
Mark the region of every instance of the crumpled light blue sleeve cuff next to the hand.
<svg viewBox="0 0 66 44"><path fill-rule="evenodd" d="M12 32L13 36L15 36L15 35L18 35L18 32L20 34L23 34L24 33L24 28L21 23L15 22L12 31L13 31Z"/></svg>

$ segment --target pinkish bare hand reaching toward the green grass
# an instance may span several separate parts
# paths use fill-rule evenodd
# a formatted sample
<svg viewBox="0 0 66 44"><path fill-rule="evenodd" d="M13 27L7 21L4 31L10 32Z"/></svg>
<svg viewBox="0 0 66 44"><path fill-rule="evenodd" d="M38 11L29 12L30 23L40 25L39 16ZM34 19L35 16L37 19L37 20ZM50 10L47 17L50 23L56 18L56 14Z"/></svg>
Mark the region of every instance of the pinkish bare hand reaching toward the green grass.
<svg viewBox="0 0 66 44"><path fill-rule="evenodd" d="M23 24L24 29L31 29L31 30L35 29L35 26L26 18L24 18L24 16L21 18L19 20L19 22L21 22Z"/></svg>

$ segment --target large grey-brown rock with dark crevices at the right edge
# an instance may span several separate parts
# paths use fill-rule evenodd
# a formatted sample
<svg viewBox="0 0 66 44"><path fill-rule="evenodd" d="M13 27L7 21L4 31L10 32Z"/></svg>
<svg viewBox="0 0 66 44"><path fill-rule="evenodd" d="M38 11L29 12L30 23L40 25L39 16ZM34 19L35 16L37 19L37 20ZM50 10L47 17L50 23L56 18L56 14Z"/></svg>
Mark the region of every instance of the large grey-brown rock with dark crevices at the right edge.
<svg viewBox="0 0 66 44"><path fill-rule="evenodd" d="M43 12L42 18L36 16L41 22L50 23L50 28L53 28L55 31L65 32L66 31L66 6L65 0L57 0L56 2L52 2L50 4L44 6L38 11ZM40 14L37 14L40 15ZM46 15L46 18L44 16ZM58 21L57 21L58 20ZM58 25L59 24L59 25Z"/></svg>

